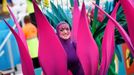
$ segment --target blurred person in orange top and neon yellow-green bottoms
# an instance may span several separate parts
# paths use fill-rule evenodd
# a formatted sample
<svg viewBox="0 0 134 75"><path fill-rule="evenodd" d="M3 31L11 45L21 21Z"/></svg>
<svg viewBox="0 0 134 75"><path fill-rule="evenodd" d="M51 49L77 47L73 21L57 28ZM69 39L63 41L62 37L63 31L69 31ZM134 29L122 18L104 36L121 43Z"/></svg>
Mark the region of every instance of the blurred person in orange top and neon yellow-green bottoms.
<svg viewBox="0 0 134 75"><path fill-rule="evenodd" d="M24 23L25 25L22 27L22 30L27 40L29 53L32 58L34 68L39 68L37 28L31 23L29 15L24 17Z"/></svg>

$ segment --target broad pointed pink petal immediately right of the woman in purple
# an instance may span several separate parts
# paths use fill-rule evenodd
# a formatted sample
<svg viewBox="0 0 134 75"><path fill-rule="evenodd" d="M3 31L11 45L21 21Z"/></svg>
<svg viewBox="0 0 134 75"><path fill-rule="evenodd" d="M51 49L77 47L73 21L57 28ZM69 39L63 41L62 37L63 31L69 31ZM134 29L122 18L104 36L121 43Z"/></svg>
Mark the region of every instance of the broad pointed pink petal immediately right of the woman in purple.
<svg viewBox="0 0 134 75"><path fill-rule="evenodd" d="M77 35L77 55L85 75L96 75L98 70L98 47L89 29L86 9L83 3Z"/></svg>

